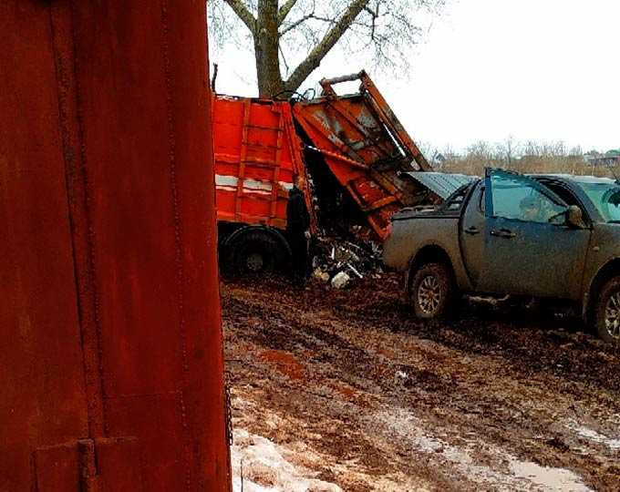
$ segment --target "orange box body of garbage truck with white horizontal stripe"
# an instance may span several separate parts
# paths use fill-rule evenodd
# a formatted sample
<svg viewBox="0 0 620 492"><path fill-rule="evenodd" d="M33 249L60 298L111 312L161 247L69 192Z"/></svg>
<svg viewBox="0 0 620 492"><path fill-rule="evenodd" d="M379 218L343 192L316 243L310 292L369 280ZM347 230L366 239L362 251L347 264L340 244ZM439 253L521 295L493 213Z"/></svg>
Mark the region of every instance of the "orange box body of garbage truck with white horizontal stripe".
<svg viewBox="0 0 620 492"><path fill-rule="evenodd" d="M289 103L214 97L213 150L218 220L284 229L294 174L305 174Z"/></svg>

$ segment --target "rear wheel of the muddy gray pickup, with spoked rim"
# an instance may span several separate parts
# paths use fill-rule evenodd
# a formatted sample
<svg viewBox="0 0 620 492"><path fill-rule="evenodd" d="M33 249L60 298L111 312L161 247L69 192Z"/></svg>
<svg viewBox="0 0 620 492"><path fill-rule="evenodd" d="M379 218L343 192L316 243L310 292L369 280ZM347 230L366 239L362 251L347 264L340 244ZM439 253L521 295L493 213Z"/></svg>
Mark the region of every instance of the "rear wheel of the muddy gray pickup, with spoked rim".
<svg viewBox="0 0 620 492"><path fill-rule="evenodd" d="M454 284L449 267L443 263L420 266L411 279L409 298L418 318L443 318L454 298Z"/></svg>

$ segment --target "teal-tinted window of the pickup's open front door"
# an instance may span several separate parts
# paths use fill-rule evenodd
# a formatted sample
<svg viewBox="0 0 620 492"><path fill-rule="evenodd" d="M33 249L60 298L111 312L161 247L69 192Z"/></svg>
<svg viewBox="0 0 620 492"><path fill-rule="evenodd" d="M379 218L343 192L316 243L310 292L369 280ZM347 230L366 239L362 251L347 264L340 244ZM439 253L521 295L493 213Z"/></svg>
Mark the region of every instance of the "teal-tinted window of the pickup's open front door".
<svg viewBox="0 0 620 492"><path fill-rule="evenodd" d="M519 175L491 173L492 214L510 220L563 223L566 206L551 191ZM488 199L487 199L488 200Z"/></svg>

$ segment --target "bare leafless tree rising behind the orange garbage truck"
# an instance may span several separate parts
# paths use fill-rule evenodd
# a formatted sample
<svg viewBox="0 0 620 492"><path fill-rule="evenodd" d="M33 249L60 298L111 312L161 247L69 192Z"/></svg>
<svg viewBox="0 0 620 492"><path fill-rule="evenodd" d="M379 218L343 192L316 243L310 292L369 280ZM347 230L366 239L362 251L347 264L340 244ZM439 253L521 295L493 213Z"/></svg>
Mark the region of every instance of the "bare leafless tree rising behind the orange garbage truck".
<svg viewBox="0 0 620 492"><path fill-rule="evenodd" d="M406 66L427 21L447 0L209 0L212 42L253 43L259 95L295 91L338 44L371 52L377 65Z"/></svg>

